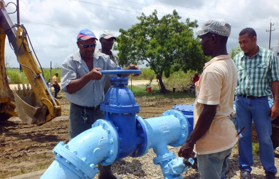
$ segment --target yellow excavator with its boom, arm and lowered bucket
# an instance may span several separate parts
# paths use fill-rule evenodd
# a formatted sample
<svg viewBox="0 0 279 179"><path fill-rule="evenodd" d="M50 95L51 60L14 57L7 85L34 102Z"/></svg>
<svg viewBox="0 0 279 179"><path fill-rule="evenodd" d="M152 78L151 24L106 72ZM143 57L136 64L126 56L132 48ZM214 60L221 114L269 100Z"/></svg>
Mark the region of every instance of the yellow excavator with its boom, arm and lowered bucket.
<svg viewBox="0 0 279 179"><path fill-rule="evenodd" d="M33 55L36 53L29 47L26 28L14 24L4 1L0 3L0 122L17 116L27 124L43 124L61 115L60 103L52 97L38 65L40 62ZM4 60L6 36L30 84L18 85L14 93L8 84Z"/></svg>

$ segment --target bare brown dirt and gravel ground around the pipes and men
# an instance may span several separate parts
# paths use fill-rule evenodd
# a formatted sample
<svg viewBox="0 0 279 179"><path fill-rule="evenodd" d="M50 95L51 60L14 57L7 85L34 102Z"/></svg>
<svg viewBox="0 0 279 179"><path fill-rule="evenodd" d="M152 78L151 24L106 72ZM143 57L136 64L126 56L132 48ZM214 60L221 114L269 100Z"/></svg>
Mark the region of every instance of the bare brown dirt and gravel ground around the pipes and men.
<svg viewBox="0 0 279 179"><path fill-rule="evenodd" d="M47 168L54 155L52 149L58 142L68 142L68 115L70 103L62 98L59 100L62 115L41 126L22 123L17 117L0 123L0 179L12 177L23 173ZM162 97L137 97L140 104L140 115L143 118L161 116L163 112L175 104L191 104L193 99L167 99ZM171 149L175 153L179 147ZM127 157L126 165L113 164L114 172L124 179L129 178L163 178L159 166L153 164L155 154L150 150L140 158ZM277 167L278 158L275 158ZM253 178L264 178L264 171L257 154L254 155ZM199 178L196 170L190 169L183 174L185 179ZM277 174L278 176L278 174ZM97 178L97 177L95 177ZM230 158L230 173L228 178L239 178L237 166L237 148Z"/></svg>

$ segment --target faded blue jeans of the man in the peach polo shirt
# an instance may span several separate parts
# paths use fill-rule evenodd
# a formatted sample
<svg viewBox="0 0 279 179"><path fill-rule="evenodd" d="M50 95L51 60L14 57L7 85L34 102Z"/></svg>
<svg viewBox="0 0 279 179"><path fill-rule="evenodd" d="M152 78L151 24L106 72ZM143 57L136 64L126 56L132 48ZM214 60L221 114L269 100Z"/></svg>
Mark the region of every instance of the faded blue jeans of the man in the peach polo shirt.
<svg viewBox="0 0 279 179"><path fill-rule="evenodd" d="M225 179L228 171L228 157L231 153L230 148L222 152L197 155L200 179Z"/></svg>

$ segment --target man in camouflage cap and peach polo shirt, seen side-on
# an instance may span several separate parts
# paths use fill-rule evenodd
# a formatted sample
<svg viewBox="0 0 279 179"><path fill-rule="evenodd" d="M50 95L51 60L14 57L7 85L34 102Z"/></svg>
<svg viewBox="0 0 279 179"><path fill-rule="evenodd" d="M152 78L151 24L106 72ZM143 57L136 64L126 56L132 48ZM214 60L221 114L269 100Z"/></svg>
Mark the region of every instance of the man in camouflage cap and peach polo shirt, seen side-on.
<svg viewBox="0 0 279 179"><path fill-rule="evenodd" d="M201 38L205 63L200 80L195 83L194 130L181 146L179 157L197 153L200 178L225 179L228 157L238 141L237 131L229 119L233 111L237 70L227 52L231 25L222 19L210 19L195 31Z"/></svg>

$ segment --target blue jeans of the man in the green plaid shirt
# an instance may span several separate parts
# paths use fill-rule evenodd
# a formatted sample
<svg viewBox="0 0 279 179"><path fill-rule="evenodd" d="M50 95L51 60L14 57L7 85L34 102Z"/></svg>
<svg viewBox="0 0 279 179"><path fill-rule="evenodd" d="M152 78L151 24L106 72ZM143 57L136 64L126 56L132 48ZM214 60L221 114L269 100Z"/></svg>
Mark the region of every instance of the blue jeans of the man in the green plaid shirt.
<svg viewBox="0 0 279 179"><path fill-rule="evenodd" d="M238 130L246 127L240 134L238 142L238 163L239 169L252 171L252 119L256 129L260 146L260 159L265 172L277 173L274 165L274 151L271 141L271 119L268 116L268 97L247 99L241 95L235 96L236 119Z"/></svg>

